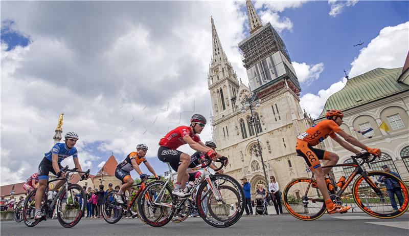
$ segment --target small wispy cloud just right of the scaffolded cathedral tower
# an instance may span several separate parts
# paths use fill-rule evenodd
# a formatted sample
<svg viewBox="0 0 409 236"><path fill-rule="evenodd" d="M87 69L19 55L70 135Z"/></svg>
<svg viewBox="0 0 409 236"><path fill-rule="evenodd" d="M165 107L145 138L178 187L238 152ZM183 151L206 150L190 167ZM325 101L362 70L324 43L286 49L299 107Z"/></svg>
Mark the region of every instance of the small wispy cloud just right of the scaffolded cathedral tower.
<svg viewBox="0 0 409 236"><path fill-rule="evenodd" d="M315 65L307 65L307 63L302 62L298 63L296 61L292 62L292 66L294 70L296 70L296 74L298 77L298 81L300 83L305 83L310 85L314 80L320 77L321 72L324 71L324 63L320 62Z"/></svg>

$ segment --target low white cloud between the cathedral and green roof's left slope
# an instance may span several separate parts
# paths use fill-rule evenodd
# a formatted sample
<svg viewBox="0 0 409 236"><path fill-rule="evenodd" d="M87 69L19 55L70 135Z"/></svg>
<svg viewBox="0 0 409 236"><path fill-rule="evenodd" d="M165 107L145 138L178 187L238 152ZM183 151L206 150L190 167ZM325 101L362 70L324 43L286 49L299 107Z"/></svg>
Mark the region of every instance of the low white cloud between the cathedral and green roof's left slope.
<svg viewBox="0 0 409 236"><path fill-rule="evenodd" d="M312 118L317 118L323 111L325 102L334 93L345 87L347 83L346 78L331 84L326 90L320 90L317 95L307 93L300 98L301 108L304 109Z"/></svg>

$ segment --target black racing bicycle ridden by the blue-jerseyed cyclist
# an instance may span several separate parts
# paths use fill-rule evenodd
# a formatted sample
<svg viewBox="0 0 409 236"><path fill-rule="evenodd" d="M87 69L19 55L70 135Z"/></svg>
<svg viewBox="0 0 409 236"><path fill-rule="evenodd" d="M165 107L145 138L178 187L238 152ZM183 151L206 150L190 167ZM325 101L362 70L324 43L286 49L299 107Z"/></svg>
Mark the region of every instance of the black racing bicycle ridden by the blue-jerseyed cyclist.
<svg viewBox="0 0 409 236"><path fill-rule="evenodd" d="M61 172L65 172L65 177L57 178L51 181L48 181L47 187L44 190L44 195L41 201L41 211L44 213L44 217L41 219L35 220L35 195L37 192L37 188L32 190L30 194L27 196L26 201L24 203L23 211L23 219L24 223L29 226L33 227L37 225L42 220L47 220L46 216L52 215L54 208L57 211L57 218L60 224L65 228L71 228L75 226L82 218L82 212L84 212L86 198L85 192L82 187L78 184L72 184L69 182L70 174L73 172L83 173L84 175L81 177L81 180L88 178L89 176L89 169L85 172L77 171L77 168L69 169L68 166L65 166L60 170ZM52 201L47 200L47 193L49 191L49 184L51 182L63 180L64 184L58 191L57 195Z"/></svg>

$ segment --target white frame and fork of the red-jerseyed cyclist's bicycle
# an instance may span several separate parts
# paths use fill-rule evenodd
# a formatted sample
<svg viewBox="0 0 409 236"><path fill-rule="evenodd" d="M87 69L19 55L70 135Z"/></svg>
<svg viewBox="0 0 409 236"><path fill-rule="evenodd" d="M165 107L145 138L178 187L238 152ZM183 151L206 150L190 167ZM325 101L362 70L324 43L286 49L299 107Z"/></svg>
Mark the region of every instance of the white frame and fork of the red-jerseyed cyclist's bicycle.
<svg viewBox="0 0 409 236"><path fill-rule="evenodd" d="M168 180L165 182L164 187L161 189L161 191L159 192L159 194L157 195L157 197L155 198L155 200L153 201L153 204L154 204L154 205L158 205L158 206L173 207L173 205L172 205L172 204L169 204L169 203L158 203L158 202L157 202L160 197L164 196L164 192L165 192L165 189L166 189L165 186L167 186L171 180L172 180L172 182L173 182L174 176L177 175L177 172L174 172L174 171L172 170L170 164L169 164L169 163L167 163L167 164L168 164L169 171L170 171L169 178L168 178ZM209 173L209 171L207 170L206 167L205 167L205 168L203 168L203 167L188 168L186 171L187 171L187 173L190 173L190 172L195 172L195 171L198 171L198 170L203 170L203 172L202 172L201 175L197 178L197 180L195 181L195 184L194 184L193 187L189 190L188 193L191 195L192 192L194 191L194 189L195 189L199 184L201 184L201 180L202 180L203 178L205 178L205 180L206 180L206 181L208 182L208 184L210 185L210 189L209 189L208 191L212 190L214 196L216 197L216 200L217 200L217 201L221 201L221 194L220 194L219 190L215 190L215 188L214 188L214 185L215 185L215 184L210 180L210 173ZM184 199L185 199L185 200L184 200L184 201L181 201L181 203L178 204L177 207L179 207L181 204L183 204L183 203L186 201L187 198L184 198ZM197 204L197 203L196 203L196 204Z"/></svg>

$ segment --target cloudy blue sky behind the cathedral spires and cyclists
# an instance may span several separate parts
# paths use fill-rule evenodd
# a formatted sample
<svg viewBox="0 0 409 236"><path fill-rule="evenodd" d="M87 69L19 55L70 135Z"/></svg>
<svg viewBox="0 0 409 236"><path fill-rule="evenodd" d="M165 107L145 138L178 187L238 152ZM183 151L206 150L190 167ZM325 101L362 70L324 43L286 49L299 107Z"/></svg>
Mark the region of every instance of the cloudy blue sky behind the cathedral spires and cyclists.
<svg viewBox="0 0 409 236"><path fill-rule="evenodd" d="M407 1L253 3L283 38L301 83L301 106L312 117L344 87L343 70L352 78L402 67L409 50ZM146 143L149 162L162 174L160 138L194 113L211 115L211 16L247 84L237 47L249 35L243 1L2 1L0 184L37 171L61 112L64 134L80 136L83 169L95 174L111 154L121 161ZM354 47L359 40L364 43ZM211 126L200 136L211 140ZM180 150L193 153L186 145Z"/></svg>

